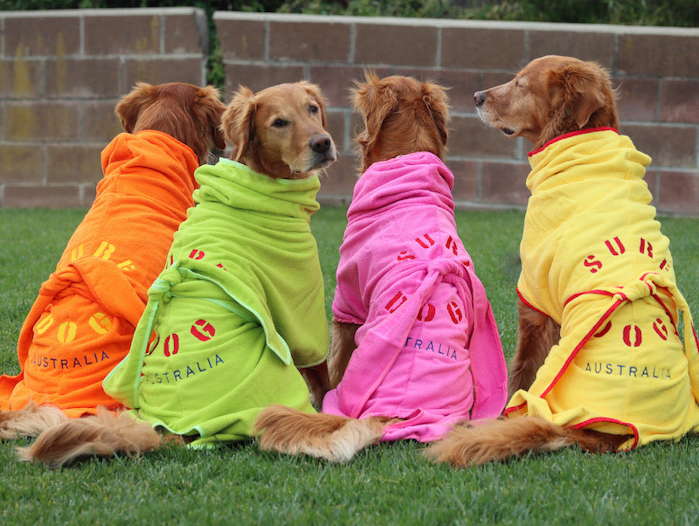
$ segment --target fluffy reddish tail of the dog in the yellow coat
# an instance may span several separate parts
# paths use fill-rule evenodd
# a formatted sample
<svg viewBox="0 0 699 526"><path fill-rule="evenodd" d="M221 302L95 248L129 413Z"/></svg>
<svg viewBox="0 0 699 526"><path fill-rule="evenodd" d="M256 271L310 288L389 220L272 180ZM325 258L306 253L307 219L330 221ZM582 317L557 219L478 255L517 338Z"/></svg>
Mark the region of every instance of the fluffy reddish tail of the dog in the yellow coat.
<svg viewBox="0 0 699 526"><path fill-rule="evenodd" d="M564 428L538 416L484 421L454 428L425 450L437 462L470 467L577 444L584 451L615 451L629 435Z"/></svg>

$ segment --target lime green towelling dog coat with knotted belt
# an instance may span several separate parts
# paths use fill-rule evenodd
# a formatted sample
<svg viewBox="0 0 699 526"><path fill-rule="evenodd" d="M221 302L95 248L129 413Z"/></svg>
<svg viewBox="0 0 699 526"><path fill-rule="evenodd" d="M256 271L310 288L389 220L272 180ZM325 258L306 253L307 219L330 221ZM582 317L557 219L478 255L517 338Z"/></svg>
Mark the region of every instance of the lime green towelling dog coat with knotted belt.
<svg viewBox="0 0 699 526"><path fill-rule="evenodd" d="M274 180L221 159L195 177L198 204L104 387L196 447L252 437L270 404L315 412L296 367L325 360L328 323L310 231L317 175Z"/></svg>

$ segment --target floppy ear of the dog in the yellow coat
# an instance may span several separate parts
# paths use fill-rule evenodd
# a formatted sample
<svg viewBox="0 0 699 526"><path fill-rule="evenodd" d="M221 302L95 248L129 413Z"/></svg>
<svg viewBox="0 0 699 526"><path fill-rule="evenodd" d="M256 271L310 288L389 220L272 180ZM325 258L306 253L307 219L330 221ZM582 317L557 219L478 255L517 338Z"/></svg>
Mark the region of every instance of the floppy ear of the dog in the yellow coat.
<svg viewBox="0 0 699 526"><path fill-rule="evenodd" d="M566 64L549 71L547 82L552 111L547 127L554 129L552 136L575 129L575 126L584 128L596 111L614 103L609 74L597 64ZM613 126L613 122L608 125Z"/></svg>

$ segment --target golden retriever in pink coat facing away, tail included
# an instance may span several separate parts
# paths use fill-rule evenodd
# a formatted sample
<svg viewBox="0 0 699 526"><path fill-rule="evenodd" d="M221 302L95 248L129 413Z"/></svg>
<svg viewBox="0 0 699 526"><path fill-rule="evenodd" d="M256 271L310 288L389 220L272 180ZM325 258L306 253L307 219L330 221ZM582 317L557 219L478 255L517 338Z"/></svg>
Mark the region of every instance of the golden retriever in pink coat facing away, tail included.
<svg viewBox="0 0 699 526"><path fill-rule="evenodd" d="M275 406L255 423L264 449L335 462L380 440L433 441L507 400L497 326L454 222L446 90L366 73L353 103L362 173L340 247L333 389L322 414Z"/></svg>

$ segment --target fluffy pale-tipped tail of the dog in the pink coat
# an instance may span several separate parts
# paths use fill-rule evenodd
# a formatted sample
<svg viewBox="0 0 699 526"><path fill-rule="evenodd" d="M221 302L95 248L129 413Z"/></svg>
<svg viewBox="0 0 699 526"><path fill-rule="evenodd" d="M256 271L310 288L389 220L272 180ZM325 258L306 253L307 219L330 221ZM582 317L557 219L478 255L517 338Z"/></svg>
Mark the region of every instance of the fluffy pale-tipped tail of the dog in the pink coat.
<svg viewBox="0 0 699 526"><path fill-rule="evenodd" d="M275 405L260 412L253 429L261 433L262 449L347 462L361 449L376 444L391 421L382 416L357 420L324 413L308 414Z"/></svg>

